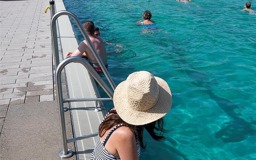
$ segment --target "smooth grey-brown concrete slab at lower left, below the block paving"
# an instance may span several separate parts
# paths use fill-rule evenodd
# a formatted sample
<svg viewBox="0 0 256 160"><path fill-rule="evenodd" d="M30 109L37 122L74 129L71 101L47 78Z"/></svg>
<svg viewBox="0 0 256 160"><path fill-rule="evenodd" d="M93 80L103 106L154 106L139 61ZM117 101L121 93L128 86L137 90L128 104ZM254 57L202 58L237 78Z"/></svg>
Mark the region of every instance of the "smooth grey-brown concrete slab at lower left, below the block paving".
<svg viewBox="0 0 256 160"><path fill-rule="evenodd" d="M61 140L56 106L56 101L10 105L1 132L0 159L59 160ZM73 133L68 113L65 113L65 119L67 137L71 138ZM75 151L74 143L68 143L68 148ZM68 160L71 159L75 160L76 156Z"/></svg>

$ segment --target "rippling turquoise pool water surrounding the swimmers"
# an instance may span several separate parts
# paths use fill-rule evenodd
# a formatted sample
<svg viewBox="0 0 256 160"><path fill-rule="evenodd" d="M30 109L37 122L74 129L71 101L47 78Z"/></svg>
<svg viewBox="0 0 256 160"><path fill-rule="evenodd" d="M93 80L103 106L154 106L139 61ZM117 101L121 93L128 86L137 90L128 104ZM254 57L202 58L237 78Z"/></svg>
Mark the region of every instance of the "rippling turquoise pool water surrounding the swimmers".
<svg viewBox="0 0 256 160"><path fill-rule="evenodd" d="M108 51L124 52L108 54L116 84L147 70L171 88L172 109L164 121L172 131L161 142L145 132L141 160L256 158L256 13L240 11L246 1L64 3L82 23L92 20L103 41L125 45L106 44ZM136 26L144 10L152 12L158 29ZM101 94L107 97L102 89ZM110 102L106 106L112 108Z"/></svg>

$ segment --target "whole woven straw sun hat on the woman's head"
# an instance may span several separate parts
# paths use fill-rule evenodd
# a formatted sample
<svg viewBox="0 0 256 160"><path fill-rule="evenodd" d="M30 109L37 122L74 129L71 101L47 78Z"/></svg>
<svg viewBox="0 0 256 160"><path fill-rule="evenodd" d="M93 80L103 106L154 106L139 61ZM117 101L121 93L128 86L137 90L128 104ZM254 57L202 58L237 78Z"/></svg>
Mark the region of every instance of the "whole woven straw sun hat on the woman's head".
<svg viewBox="0 0 256 160"><path fill-rule="evenodd" d="M143 125L165 116L172 105L168 84L147 71L134 72L114 92L114 106L128 124Z"/></svg>

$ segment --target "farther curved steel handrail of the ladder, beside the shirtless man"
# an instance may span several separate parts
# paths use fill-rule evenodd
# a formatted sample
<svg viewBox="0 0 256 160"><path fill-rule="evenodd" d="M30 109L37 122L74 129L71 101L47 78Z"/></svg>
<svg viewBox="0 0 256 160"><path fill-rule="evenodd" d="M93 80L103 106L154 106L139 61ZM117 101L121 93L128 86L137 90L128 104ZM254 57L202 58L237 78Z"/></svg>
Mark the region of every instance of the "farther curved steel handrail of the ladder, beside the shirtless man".
<svg viewBox="0 0 256 160"><path fill-rule="evenodd" d="M52 44L53 45L53 55L54 55L54 63L55 63L56 68L58 67L60 61L59 61L59 52L58 52L59 48L58 48L58 39L57 39L57 29L54 26L56 26L57 18L60 17L61 15L68 15L68 16L72 17L73 20L75 20L76 25L78 26L80 32L84 36L84 39L86 40L89 48L92 50L93 56L95 57L95 59L99 63L100 68L102 69L103 73L106 75L109 84L111 85L113 90L115 90L116 85L115 85L114 81L112 80L112 78L110 77L110 75L107 71L107 68L105 67L103 61L101 60L98 52L96 51L95 47L93 46L92 41L90 40L89 36L85 32L83 25L78 20L77 16L74 13L70 12L70 11L59 11L59 12L55 13L52 16L52 20L51 20L51 31L52 31L52 36L53 36L52 37L52 39L53 39L52 40L52 42L53 42L53 44Z"/></svg>

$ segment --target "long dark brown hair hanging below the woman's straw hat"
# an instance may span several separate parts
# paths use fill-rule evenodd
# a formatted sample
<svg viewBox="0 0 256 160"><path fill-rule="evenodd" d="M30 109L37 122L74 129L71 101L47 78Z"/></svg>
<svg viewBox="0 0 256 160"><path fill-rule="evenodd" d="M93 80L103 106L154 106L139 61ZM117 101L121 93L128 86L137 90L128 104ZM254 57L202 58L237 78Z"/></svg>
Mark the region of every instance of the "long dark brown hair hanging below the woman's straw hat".
<svg viewBox="0 0 256 160"><path fill-rule="evenodd" d="M156 127L156 122L157 122L157 127ZM163 118L158 119L157 121L151 122L149 124L144 124L144 125L132 125L124 122L120 118L120 116L117 114L116 110L113 109L109 112L109 115L106 117L106 119L100 124L99 127L99 135L102 137L107 130L112 129L114 126L117 124L124 124L127 125L130 130L133 133L138 132L139 140L140 140L140 146L141 148L145 149L146 145L143 144L143 129L145 128L148 133L151 135L151 137L154 140L161 141L164 140L163 133L168 132L163 128L164 126L164 121ZM160 133L156 133L156 131L160 131Z"/></svg>

